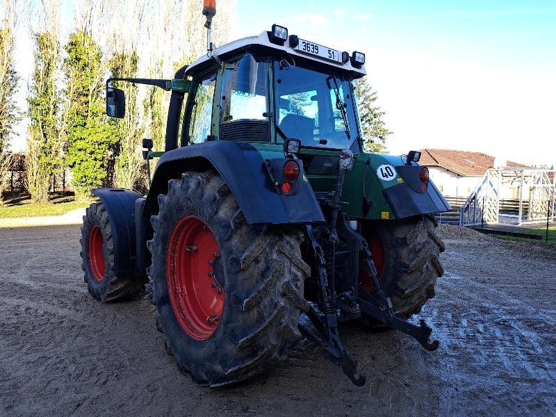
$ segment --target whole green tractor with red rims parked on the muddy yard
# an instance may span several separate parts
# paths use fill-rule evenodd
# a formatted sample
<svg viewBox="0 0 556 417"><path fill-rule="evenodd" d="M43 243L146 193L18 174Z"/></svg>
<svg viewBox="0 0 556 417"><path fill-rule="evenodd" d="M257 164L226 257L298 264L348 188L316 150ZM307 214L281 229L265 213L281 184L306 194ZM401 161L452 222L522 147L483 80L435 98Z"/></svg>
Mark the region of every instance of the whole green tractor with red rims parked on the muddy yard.
<svg viewBox="0 0 556 417"><path fill-rule="evenodd" d="M88 291L102 302L148 294L179 370L225 386L261 373L306 337L356 385L365 377L338 327L391 327L435 350L424 320L450 210L407 156L368 154L352 81L365 55L273 25L214 48L171 80L108 79L171 91L164 152L146 196L99 188L83 218ZM377 336L379 337L379 336Z"/></svg>

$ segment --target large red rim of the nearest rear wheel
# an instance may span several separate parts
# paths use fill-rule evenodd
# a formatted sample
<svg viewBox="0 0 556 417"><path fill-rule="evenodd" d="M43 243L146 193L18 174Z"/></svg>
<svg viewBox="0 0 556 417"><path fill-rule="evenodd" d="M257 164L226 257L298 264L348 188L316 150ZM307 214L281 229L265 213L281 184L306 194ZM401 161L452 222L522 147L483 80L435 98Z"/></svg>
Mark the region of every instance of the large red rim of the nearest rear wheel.
<svg viewBox="0 0 556 417"><path fill-rule="evenodd" d="M181 218L172 230L166 282L183 331L195 341L211 337L224 309L222 260L211 229L196 215Z"/></svg>

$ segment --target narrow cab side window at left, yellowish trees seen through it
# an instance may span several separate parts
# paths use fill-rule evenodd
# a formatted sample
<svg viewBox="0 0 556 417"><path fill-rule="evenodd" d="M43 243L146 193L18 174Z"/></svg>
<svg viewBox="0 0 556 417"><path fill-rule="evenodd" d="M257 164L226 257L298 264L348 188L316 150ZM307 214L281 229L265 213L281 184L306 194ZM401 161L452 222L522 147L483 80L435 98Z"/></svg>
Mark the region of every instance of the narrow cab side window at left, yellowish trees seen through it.
<svg viewBox="0 0 556 417"><path fill-rule="evenodd" d="M189 143L202 143L211 134L216 73L199 82L189 125Z"/></svg>

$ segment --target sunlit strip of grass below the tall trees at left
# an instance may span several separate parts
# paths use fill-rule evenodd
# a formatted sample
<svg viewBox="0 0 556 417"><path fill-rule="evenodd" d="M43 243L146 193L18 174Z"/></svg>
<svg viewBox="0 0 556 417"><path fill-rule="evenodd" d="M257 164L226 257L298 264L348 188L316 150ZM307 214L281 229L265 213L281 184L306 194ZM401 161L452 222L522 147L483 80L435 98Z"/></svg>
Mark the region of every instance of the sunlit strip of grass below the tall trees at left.
<svg viewBox="0 0 556 417"><path fill-rule="evenodd" d="M4 202L3 206L0 206L0 218L60 215L88 205L88 202L76 202L70 193L51 195L50 202L44 204L33 204L28 196L22 196Z"/></svg>

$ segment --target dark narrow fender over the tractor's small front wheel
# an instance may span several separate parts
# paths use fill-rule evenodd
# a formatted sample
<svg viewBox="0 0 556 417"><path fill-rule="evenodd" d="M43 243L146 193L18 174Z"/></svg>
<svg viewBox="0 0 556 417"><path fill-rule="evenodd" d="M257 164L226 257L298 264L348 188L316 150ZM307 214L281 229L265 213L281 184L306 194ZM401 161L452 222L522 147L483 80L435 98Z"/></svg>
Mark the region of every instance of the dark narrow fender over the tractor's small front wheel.
<svg viewBox="0 0 556 417"><path fill-rule="evenodd" d="M135 202L141 196L124 188L95 188L92 193L104 204L110 220L115 275L121 277L138 273Z"/></svg>

